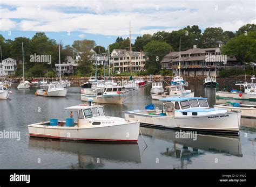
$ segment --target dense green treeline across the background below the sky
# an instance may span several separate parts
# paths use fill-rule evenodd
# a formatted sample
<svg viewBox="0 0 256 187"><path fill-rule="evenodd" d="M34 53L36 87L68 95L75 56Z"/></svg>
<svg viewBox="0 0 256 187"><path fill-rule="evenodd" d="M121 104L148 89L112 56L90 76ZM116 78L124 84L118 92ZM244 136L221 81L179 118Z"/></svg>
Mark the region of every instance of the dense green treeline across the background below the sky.
<svg viewBox="0 0 256 187"><path fill-rule="evenodd" d="M181 40L181 51L185 51L197 45L198 48L218 47L219 42L224 43L221 48L223 54L236 57L241 62L256 61L256 25L246 24L239 28L237 32L223 31L220 27L208 27L204 32L197 25L186 26L183 29L172 32L158 31L151 34L144 34L137 37L132 44L133 51L144 51L149 61L146 63L146 71L143 74L157 74L159 62L167 53L179 51L179 39ZM22 60L22 42L24 43L24 59L26 63L26 77L44 76L49 70L50 76L55 76L52 68L58 62L58 42L49 39L45 33L38 32L32 39L18 37L14 40L5 39L0 35L0 46L2 48L3 59L11 57ZM114 48L129 49L129 38L118 37L116 42L111 44L110 52ZM73 56L79 53L81 60L78 61L78 76L91 74L94 70L89 56L90 49L99 53L107 52L103 46L96 46L93 40L76 40L72 46L63 46L60 42L61 61L65 61L66 56ZM31 54L51 55L51 64L30 62ZM21 64L16 75L21 75Z"/></svg>

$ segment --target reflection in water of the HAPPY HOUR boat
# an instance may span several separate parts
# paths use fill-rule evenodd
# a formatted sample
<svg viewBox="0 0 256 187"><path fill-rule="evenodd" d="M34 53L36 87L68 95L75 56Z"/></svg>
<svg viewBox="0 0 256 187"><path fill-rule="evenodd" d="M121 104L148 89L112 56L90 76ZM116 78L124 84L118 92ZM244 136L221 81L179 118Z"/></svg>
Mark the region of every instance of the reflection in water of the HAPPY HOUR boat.
<svg viewBox="0 0 256 187"><path fill-rule="evenodd" d="M193 138L176 138L176 135L180 133L179 131L144 127L140 127L140 130L144 136L151 136L174 143L174 149L166 150L166 152L162 153L163 155L180 158L187 155L188 151L190 152L190 156L193 156L201 155L201 150L205 150L212 153L242 156L241 143L238 135L196 134L196 140L194 140Z"/></svg>

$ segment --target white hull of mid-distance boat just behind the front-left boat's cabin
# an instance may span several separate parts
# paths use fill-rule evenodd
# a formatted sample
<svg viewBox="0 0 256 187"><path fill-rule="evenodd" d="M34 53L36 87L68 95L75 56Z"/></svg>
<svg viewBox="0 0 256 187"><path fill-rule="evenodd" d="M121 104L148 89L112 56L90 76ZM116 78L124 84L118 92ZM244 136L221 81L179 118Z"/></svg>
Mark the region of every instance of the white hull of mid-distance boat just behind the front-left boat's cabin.
<svg viewBox="0 0 256 187"><path fill-rule="evenodd" d="M90 95L90 94L81 94L81 100L88 102L89 98L93 99L93 103L104 103L104 104L122 104L127 93L116 94L116 95Z"/></svg>

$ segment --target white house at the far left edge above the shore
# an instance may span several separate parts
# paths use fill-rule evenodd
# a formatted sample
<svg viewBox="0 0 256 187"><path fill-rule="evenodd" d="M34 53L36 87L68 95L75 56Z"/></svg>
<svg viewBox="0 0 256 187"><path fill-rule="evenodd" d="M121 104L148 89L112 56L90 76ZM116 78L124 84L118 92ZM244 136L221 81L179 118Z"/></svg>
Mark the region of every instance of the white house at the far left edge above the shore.
<svg viewBox="0 0 256 187"><path fill-rule="evenodd" d="M0 76L14 75L17 70L17 61L12 58L2 60L0 63Z"/></svg>

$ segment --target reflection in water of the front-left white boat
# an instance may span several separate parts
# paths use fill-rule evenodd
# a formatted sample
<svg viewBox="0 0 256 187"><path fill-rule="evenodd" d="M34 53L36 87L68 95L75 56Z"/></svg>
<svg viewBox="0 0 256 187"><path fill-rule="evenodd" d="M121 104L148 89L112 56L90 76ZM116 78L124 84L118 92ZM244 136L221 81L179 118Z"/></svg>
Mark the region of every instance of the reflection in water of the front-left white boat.
<svg viewBox="0 0 256 187"><path fill-rule="evenodd" d="M94 162L93 159L107 159L118 162L140 163L140 152L137 143L84 143L30 137L29 147L75 153L79 158L83 158L83 161Z"/></svg>

